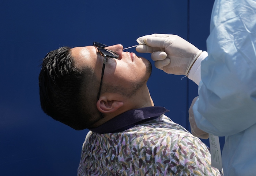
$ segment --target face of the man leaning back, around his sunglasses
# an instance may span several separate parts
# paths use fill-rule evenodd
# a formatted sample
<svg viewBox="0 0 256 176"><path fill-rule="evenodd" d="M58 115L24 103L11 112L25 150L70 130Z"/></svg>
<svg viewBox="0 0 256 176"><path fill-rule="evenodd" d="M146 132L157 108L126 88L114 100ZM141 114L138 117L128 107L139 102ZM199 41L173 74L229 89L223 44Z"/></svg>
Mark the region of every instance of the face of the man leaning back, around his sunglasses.
<svg viewBox="0 0 256 176"><path fill-rule="evenodd" d="M119 55L118 59L107 58L102 81L102 92L110 86L121 87L124 90L135 90L146 82L151 74L150 62L134 53L123 52L121 44L106 47ZM94 46L76 47L71 49L76 67L82 69L85 66L93 68L98 80L101 78L104 57ZM109 86L106 86L109 85Z"/></svg>

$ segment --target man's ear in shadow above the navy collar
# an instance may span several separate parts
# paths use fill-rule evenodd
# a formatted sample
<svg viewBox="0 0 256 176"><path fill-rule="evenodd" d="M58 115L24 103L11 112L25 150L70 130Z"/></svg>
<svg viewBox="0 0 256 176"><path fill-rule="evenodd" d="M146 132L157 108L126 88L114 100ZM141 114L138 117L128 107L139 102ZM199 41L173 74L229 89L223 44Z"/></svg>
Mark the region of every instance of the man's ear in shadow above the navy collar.
<svg viewBox="0 0 256 176"><path fill-rule="evenodd" d="M117 100L108 100L106 97L100 97L97 101L97 109L101 113L112 113L122 107L124 102Z"/></svg>

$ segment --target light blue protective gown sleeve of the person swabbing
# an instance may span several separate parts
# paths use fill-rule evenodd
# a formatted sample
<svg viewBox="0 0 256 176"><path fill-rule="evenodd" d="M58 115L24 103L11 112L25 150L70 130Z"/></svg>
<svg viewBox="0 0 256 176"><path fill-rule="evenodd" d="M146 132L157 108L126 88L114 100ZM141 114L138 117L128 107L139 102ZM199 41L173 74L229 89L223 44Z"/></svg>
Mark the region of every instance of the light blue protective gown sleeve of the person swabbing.
<svg viewBox="0 0 256 176"><path fill-rule="evenodd" d="M229 136L256 123L255 45L256 2L215 0L193 106L200 129Z"/></svg>

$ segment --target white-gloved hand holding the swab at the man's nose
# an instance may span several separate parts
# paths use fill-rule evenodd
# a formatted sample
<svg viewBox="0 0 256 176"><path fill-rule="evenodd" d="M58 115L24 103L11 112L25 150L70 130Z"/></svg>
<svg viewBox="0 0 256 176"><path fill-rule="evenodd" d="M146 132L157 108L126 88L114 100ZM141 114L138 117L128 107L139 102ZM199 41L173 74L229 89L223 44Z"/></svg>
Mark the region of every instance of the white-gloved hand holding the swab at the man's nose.
<svg viewBox="0 0 256 176"><path fill-rule="evenodd" d="M193 63L202 53L191 43L177 35L152 34L137 39L136 51L152 53L155 67L169 74L188 75Z"/></svg>

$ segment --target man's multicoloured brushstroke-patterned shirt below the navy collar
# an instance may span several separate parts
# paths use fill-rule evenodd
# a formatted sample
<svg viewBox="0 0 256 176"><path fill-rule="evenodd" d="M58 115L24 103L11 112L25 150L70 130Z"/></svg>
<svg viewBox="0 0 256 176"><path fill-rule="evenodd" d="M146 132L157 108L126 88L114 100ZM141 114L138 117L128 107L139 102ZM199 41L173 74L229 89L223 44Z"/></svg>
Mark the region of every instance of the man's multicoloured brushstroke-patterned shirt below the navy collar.
<svg viewBox="0 0 256 176"><path fill-rule="evenodd" d="M127 117L128 118L128 117ZM221 175L206 145L165 115L113 133L90 131L79 176Z"/></svg>

